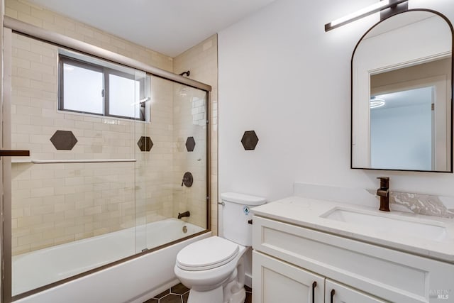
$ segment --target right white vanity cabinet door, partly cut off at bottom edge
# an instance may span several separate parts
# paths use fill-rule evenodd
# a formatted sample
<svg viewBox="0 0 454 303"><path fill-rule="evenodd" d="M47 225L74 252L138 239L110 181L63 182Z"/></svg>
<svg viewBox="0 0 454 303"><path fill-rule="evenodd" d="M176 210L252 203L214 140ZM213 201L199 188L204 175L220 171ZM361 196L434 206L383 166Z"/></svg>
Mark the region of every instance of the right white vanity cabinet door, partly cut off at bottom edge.
<svg viewBox="0 0 454 303"><path fill-rule="evenodd" d="M325 303L384 303L375 297L371 297L364 292L353 290L334 281L325 281Z"/></svg>

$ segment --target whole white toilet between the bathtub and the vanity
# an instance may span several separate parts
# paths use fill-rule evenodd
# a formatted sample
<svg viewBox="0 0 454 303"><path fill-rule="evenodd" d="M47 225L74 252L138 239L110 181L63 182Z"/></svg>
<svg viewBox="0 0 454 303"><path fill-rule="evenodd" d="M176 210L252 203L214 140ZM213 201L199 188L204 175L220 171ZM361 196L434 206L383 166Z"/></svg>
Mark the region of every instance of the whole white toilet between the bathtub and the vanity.
<svg viewBox="0 0 454 303"><path fill-rule="evenodd" d="M265 204L261 197L221 194L224 237L211 236L179 251L175 275L190 289L188 303L243 303L244 258L252 246L250 208Z"/></svg>

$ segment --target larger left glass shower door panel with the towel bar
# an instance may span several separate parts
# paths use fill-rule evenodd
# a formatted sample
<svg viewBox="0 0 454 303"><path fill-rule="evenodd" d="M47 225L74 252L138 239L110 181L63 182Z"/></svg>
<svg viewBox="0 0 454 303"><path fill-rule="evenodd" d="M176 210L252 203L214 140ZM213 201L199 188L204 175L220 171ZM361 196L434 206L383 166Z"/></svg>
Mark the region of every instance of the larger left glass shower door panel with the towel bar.
<svg viewBox="0 0 454 303"><path fill-rule="evenodd" d="M11 149L30 150L2 159L11 171L4 287L14 299L135 255L147 91L145 72L11 31L5 38L3 135Z"/></svg>

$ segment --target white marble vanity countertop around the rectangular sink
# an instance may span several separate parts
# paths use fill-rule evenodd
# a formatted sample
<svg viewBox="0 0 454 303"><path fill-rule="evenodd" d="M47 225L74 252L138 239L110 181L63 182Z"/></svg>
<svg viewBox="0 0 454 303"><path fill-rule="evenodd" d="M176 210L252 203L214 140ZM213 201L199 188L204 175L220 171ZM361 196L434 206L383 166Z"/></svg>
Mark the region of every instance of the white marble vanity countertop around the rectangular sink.
<svg viewBox="0 0 454 303"><path fill-rule="evenodd" d="M391 211L388 213L379 211L378 206L379 203L377 203L377 208L374 209L356 204L303 197L288 197L276 202L257 206L251 210L257 216L277 219L289 224L454 263L454 221L452 219L424 216L402 211ZM387 228L387 226L383 226L384 224L368 224L367 222L353 224L323 217L331 214L334 209L360 212L406 222L424 223L429 225L428 228L440 226L445 228L446 234L437 240L427 238L427 236L424 238L419 231L412 233L408 230L399 231L397 228Z"/></svg>

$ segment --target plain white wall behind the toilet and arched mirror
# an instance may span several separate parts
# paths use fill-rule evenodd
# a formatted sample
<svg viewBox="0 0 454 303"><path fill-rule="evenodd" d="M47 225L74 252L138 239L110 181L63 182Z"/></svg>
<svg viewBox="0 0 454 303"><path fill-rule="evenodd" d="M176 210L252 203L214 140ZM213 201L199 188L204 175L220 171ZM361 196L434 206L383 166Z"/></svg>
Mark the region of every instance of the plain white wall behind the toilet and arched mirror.
<svg viewBox="0 0 454 303"><path fill-rule="evenodd" d="M350 170L350 60L378 14L325 33L324 24L375 0L277 0L218 34L219 192L269 200L294 181L454 196L454 175ZM454 22L452 0L409 0ZM243 150L255 130L255 150Z"/></svg>

